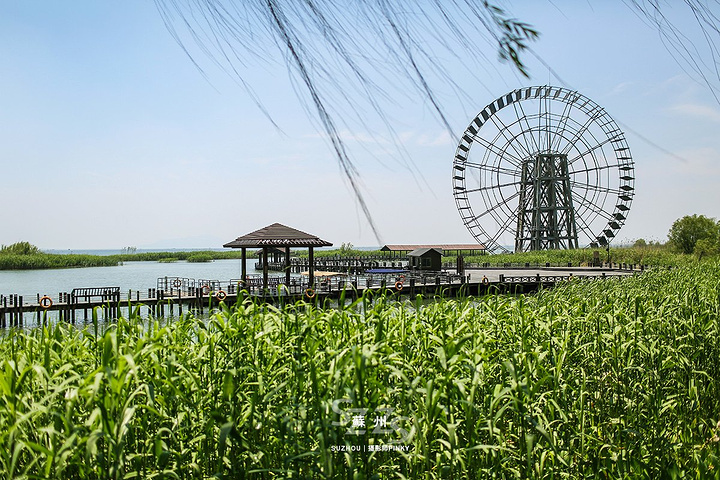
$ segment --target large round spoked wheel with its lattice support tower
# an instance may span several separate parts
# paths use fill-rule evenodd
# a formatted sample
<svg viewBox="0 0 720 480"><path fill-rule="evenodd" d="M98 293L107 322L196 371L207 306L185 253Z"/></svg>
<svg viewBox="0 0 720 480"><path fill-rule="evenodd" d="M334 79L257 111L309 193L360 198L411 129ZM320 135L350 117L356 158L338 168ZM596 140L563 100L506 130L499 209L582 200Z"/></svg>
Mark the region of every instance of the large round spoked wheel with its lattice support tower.
<svg viewBox="0 0 720 480"><path fill-rule="evenodd" d="M488 252L607 246L625 223L635 170L625 134L578 92L525 87L462 135L453 195Z"/></svg>

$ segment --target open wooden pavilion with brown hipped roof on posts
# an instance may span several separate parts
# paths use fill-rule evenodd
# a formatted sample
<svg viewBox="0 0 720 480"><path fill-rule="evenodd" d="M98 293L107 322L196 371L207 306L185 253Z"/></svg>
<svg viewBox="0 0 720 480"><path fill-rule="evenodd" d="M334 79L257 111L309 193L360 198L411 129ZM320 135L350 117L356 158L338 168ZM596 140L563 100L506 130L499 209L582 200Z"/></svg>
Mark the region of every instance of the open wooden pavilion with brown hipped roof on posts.
<svg viewBox="0 0 720 480"><path fill-rule="evenodd" d="M310 265L310 274L308 275L309 286L312 287L315 282L314 275L314 257L313 249L315 247L331 247L332 243L326 242L309 233L295 230L280 223L273 223L265 228L256 230L242 237L238 237L232 242L228 242L223 247L239 248L242 256L242 281L247 277L247 267L245 260L247 258L248 248L262 248L262 266L263 266L263 290L268 286L268 252L272 249L285 249L285 284L290 285L290 248L306 247L309 249L308 260Z"/></svg>

